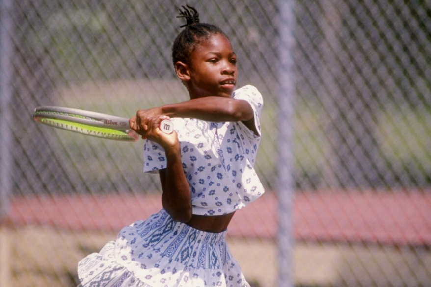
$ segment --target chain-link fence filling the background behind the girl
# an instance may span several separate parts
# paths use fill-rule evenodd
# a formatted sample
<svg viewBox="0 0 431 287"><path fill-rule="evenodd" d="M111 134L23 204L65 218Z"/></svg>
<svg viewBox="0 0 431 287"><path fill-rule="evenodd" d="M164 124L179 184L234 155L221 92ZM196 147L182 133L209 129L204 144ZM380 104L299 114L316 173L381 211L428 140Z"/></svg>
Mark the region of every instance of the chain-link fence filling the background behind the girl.
<svg viewBox="0 0 431 287"><path fill-rule="evenodd" d="M170 60L185 2L0 2L0 286L74 287L77 262L157 212L161 188L142 172L142 142L55 130L33 122L33 110L130 117L187 100ZM230 36L238 86L255 85L265 100L256 170L267 192L228 231L249 282L431 286L431 3L188 4ZM280 122L286 99L292 120ZM279 160L284 141L291 162ZM292 186L280 186L285 177ZM292 190L292 204L279 204ZM286 222L293 240L277 237ZM290 282L277 280L289 270Z"/></svg>

